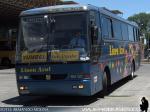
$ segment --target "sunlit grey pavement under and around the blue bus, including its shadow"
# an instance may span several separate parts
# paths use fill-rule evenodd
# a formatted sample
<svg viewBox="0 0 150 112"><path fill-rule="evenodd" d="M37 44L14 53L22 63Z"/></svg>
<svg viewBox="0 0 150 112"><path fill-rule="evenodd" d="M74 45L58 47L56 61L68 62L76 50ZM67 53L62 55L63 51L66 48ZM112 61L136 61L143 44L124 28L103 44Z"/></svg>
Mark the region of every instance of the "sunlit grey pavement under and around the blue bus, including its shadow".
<svg viewBox="0 0 150 112"><path fill-rule="evenodd" d="M0 107L42 106L51 107L51 112L139 111L143 96L150 101L150 64L142 64L135 75L133 80L126 78L112 85L104 98L99 94L92 97L19 97L14 68L0 68Z"/></svg>

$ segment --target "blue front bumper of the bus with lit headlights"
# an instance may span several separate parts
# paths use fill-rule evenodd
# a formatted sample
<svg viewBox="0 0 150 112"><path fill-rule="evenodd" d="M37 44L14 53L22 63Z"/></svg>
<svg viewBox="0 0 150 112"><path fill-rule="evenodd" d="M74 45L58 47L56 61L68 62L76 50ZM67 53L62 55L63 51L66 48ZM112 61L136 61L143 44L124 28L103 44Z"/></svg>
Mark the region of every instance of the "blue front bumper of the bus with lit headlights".
<svg viewBox="0 0 150 112"><path fill-rule="evenodd" d="M18 81L20 95L91 96L91 80Z"/></svg>

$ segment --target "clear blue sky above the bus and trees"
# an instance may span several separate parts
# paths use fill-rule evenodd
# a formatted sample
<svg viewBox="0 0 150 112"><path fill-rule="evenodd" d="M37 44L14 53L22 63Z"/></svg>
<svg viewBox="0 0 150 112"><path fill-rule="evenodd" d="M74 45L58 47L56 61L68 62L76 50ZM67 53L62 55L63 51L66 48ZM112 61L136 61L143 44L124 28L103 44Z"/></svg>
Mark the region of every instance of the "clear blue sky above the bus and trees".
<svg viewBox="0 0 150 112"><path fill-rule="evenodd" d="M140 12L150 13L150 0L72 0L81 4L92 4L123 12L123 18L128 18Z"/></svg>

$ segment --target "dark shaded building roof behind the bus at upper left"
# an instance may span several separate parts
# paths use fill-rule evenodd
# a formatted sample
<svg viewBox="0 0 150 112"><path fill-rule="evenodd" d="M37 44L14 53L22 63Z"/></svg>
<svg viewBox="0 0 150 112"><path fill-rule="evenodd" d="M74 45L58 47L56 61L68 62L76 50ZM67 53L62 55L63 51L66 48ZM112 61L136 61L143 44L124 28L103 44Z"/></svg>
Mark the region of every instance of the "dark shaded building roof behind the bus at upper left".
<svg viewBox="0 0 150 112"><path fill-rule="evenodd" d="M9 30L18 27L21 11L61 4L76 4L76 2L63 0L0 0L0 38L7 38Z"/></svg>

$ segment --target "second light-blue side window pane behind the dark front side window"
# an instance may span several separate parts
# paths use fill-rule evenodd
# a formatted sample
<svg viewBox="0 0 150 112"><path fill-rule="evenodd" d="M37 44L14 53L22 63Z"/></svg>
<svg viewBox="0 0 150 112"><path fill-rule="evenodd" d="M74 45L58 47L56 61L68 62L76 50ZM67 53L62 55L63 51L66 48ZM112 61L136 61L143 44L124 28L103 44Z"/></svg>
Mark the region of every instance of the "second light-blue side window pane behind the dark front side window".
<svg viewBox="0 0 150 112"><path fill-rule="evenodd" d="M121 30L122 30L122 37L123 40L128 40L128 26L125 23L121 24Z"/></svg>

